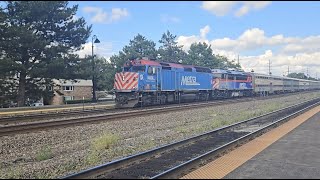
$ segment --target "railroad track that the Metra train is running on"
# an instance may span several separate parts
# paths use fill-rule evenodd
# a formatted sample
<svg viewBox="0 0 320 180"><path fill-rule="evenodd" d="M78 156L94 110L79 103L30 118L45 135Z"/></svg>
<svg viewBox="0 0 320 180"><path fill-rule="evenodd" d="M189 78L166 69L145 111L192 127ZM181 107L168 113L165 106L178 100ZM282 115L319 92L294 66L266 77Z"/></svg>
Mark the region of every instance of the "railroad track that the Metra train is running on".
<svg viewBox="0 0 320 180"><path fill-rule="evenodd" d="M301 93L301 92L299 92ZM307 92L303 92L307 93ZM255 97L260 99L271 99L271 98L277 98L282 96L289 96L293 95L294 93L289 94L281 94L281 95L273 95L268 97ZM201 103L201 102L200 102ZM188 105L190 103L182 103L182 105ZM171 107L176 105L166 105L165 107ZM154 106L154 107L160 107L160 106ZM154 107L145 107L143 109L152 109ZM105 114L105 113L115 113L115 112L121 112L121 111L127 111L130 109L96 109L96 110L82 110L82 111L56 111L56 112L41 112L36 114L22 114L22 115L14 115L14 116L3 116L0 117L0 124L1 125L10 125L10 124L19 124L23 122L32 122L32 121L41 121L41 120L47 120L47 119L56 119L56 118L64 118L64 117L72 117L72 116L89 116L91 114Z"/></svg>

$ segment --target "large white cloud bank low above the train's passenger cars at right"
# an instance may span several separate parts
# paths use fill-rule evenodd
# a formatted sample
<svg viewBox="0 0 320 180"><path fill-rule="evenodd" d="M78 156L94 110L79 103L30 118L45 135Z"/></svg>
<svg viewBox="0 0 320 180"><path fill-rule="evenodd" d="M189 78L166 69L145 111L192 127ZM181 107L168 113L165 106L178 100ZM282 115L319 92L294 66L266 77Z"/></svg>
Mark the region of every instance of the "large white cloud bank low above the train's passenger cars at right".
<svg viewBox="0 0 320 180"><path fill-rule="evenodd" d="M265 32L259 28L252 28L244 31L238 38L232 39L223 37L209 40L206 34L210 27L205 26L200 29L199 35L179 36L177 42L183 45L183 49L188 51L192 43L206 42L211 45L215 54L228 57L237 61L240 54L240 64L245 71L268 73L269 59L271 61L271 72L274 75L286 75L288 65L290 72L311 72L315 77L315 72L319 72L320 77L320 35L308 37L285 37L282 34L266 36ZM266 49L264 53L257 51ZM273 49L273 50L271 50ZM254 52L255 55L241 55ZM313 72L313 73L312 73Z"/></svg>

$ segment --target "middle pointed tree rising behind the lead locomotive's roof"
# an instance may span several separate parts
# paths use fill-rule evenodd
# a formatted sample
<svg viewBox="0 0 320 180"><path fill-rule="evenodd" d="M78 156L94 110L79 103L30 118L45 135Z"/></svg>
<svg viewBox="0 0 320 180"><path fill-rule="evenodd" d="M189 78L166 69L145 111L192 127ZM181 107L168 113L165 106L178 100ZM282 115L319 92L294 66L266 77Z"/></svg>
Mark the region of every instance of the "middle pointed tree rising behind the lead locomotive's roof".
<svg viewBox="0 0 320 180"><path fill-rule="evenodd" d="M178 46L178 43L175 41L176 37L176 35L171 34L169 31L162 34L159 40L162 46L158 50L158 54L160 55L157 58L158 61L181 63L186 59L187 54L182 50L183 46Z"/></svg>

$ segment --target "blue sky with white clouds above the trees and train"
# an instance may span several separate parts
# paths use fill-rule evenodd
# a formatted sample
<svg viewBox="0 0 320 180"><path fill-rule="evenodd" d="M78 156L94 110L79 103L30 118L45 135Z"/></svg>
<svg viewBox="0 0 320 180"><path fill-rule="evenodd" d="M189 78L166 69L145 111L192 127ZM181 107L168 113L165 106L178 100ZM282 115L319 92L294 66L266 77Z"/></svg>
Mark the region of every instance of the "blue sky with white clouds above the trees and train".
<svg viewBox="0 0 320 180"><path fill-rule="evenodd" d="M320 2L316 1L70 1L74 18L92 24L94 53L110 58L141 34L160 46L169 30L188 51L195 42L238 61L245 71L320 78ZM92 36L79 51L91 54Z"/></svg>

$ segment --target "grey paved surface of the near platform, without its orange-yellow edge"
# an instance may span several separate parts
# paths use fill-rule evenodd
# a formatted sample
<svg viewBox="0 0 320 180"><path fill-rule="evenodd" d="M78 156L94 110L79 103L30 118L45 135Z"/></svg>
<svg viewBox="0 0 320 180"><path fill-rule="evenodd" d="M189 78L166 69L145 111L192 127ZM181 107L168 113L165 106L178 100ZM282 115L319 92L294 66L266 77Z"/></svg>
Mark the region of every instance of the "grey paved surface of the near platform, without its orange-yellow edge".
<svg viewBox="0 0 320 180"><path fill-rule="evenodd" d="M276 178L320 178L320 112L224 177Z"/></svg>

